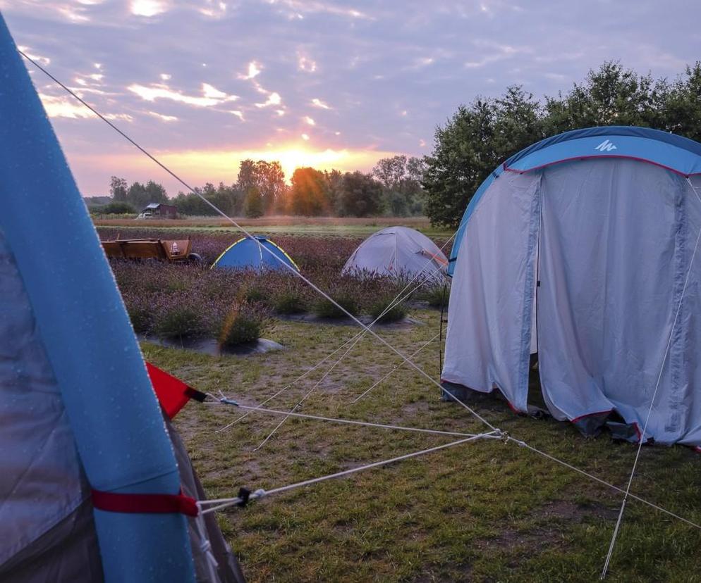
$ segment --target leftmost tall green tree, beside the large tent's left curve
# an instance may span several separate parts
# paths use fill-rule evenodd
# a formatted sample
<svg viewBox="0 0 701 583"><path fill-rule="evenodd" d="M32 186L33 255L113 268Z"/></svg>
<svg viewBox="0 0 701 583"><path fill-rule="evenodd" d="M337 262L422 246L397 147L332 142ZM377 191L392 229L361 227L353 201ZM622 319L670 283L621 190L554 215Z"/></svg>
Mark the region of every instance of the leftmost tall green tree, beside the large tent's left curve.
<svg viewBox="0 0 701 583"><path fill-rule="evenodd" d="M544 137L542 108L521 87L499 99L475 99L435 134L422 185L433 225L457 227L475 190L511 154Z"/></svg>

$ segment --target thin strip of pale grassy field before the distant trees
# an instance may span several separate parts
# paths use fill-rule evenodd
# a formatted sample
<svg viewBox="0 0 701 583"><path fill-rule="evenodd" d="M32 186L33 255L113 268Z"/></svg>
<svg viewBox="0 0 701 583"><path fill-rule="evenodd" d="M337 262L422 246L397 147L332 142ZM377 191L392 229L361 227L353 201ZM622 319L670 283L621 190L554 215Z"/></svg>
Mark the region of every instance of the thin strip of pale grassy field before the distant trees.
<svg viewBox="0 0 701 583"><path fill-rule="evenodd" d="M403 225L416 229L429 237L449 237L451 230L432 227L426 217L263 217L260 219L236 218L236 222L246 230L260 234L303 234L303 235L341 235L366 237L394 225ZM98 227L109 227L123 232L122 238L128 237L128 229L138 228L159 232L175 228L193 232L240 232L224 219L193 218L182 220L133 220L133 219L96 219Z"/></svg>

